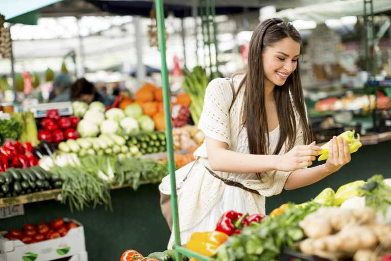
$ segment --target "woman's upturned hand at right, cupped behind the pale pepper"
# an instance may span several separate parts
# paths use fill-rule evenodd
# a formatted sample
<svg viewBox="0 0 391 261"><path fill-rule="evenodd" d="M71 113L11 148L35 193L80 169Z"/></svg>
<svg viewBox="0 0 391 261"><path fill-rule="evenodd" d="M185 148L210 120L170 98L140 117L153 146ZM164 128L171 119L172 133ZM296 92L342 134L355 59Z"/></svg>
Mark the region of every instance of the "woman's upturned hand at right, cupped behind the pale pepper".
<svg viewBox="0 0 391 261"><path fill-rule="evenodd" d="M350 162L349 145L342 137L334 136L330 141L330 152L325 163L327 170L331 173L336 172L342 166Z"/></svg>

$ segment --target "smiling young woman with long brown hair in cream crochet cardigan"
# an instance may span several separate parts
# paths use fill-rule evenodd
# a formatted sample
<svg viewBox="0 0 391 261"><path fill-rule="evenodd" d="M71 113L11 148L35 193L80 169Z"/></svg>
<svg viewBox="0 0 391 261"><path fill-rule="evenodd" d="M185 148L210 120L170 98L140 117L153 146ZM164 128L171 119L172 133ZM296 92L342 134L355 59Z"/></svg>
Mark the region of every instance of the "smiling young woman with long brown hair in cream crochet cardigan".
<svg viewBox="0 0 391 261"><path fill-rule="evenodd" d="M181 243L215 229L227 211L265 213L265 197L313 184L350 162L347 143L334 137L325 164L313 168L299 74L301 38L287 21L268 19L254 30L248 69L207 87L197 161L176 172ZM227 180L229 180L227 182ZM160 185L170 194L170 180ZM172 233L169 248L174 243Z"/></svg>

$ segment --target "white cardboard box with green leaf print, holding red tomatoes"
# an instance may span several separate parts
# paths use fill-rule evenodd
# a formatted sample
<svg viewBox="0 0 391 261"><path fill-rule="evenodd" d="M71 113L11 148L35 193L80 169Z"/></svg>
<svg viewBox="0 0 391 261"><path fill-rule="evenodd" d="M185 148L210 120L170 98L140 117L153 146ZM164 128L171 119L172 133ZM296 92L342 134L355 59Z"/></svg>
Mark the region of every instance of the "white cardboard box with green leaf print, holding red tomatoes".
<svg viewBox="0 0 391 261"><path fill-rule="evenodd" d="M32 244L10 241L2 232L0 261L49 261L70 256L72 261L88 261L83 226L75 220L64 218L64 221L73 221L79 226L70 229L64 237Z"/></svg>

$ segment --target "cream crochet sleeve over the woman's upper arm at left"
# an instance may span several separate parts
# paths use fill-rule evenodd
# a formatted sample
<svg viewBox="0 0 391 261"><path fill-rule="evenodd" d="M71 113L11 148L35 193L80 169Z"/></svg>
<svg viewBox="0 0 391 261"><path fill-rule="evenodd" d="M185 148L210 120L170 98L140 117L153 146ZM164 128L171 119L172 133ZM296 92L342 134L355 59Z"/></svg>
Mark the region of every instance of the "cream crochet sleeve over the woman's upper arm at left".
<svg viewBox="0 0 391 261"><path fill-rule="evenodd" d="M206 88L204 107L198 128L209 138L231 146L229 108L232 102L232 88L226 79L212 80Z"/></svg>

